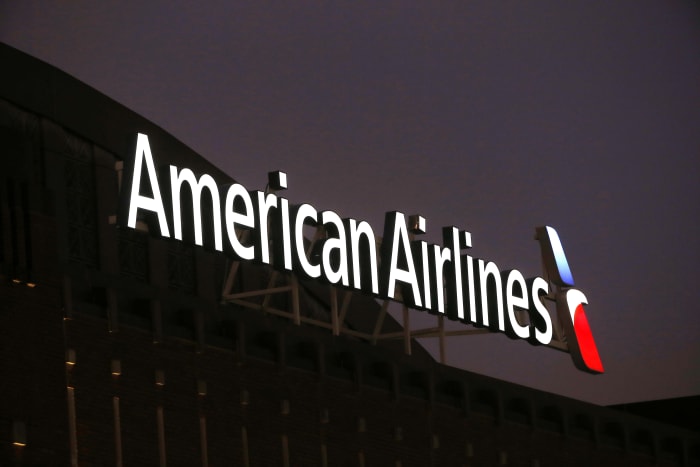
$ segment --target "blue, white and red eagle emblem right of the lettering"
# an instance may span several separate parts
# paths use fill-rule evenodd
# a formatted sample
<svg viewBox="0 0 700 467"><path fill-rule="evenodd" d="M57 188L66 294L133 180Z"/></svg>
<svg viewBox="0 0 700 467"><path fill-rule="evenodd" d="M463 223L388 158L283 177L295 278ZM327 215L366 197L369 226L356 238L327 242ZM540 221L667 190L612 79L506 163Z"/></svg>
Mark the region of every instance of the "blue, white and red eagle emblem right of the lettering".
<svg viewBox="0 0 700 467"><path fill-rule="evenodd" d="M559 234L552 227L537 229L537 240L542 249L542 259L549 280L557 286L557 316L564 327L567 345L574 365L589 373L603 373L603 363L593 339L591 327L584 311L588 305L586 296L573 288L574 278L566 260Z"/></svg>

